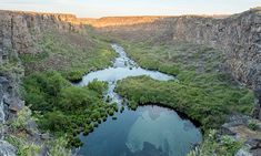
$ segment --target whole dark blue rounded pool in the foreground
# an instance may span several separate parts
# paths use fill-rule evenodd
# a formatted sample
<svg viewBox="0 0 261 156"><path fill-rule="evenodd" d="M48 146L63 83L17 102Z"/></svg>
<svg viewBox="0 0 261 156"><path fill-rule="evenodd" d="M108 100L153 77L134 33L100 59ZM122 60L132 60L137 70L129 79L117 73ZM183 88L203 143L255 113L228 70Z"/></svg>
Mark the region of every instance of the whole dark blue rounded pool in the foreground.
<svg viewBox="0 0 261 156"><path fill-rule="evenodd" d="M109 118L88 136L79 154L84 156L184 156L201 141L200 131L168 108L142 106ZM187 128L187 125L192 125Z"/></svg>

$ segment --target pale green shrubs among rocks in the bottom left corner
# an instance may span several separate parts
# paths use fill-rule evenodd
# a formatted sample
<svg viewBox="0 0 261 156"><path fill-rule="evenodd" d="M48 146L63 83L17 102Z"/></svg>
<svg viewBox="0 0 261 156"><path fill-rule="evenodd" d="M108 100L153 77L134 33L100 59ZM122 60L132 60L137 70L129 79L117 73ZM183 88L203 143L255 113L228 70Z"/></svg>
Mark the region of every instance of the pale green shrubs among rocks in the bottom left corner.
<svg viewBox="0 0 261 156"><path fill-rule="evenodd" d="M9 133L4 139L17 147L18 156L36 156L39 155L43 147L49 148L51 156L69 156L70 149L68 141L64 137L46 139L41 142L32 142L31 135L38 134L38 131L28 126L28 122L32 121L31 111L24 106L19 113L17 118L8 121L6 125L9 127ZM30 137L28 132L30 132Z"/></svg>

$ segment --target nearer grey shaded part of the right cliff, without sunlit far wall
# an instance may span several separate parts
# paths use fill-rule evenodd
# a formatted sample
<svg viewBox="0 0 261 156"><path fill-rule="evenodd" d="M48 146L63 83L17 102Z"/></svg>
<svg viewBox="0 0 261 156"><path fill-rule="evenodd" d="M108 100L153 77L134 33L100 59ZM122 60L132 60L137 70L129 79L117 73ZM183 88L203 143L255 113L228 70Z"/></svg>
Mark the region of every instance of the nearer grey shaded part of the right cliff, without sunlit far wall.
<svg viewBox="0 0 261 156"><path fill-rule="evenodd" d="M173 40L221 49L232 75L252 89L261 87L261 13L251 10L225 19L179 18Z"/></svg>

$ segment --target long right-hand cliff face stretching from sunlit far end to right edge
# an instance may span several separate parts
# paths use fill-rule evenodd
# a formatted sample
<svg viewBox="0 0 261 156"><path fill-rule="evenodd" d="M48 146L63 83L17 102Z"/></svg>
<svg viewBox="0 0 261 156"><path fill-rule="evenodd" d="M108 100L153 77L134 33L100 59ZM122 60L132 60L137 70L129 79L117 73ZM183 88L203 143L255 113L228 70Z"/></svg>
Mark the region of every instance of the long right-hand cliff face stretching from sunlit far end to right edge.
<svg viewBox="0 0 261 156"><path fill-rule="evenodd" d="M127 40L187 41L221 49L235 80L251 89L261 87L261 8L231 17L184 15L153 20L132 25L129 20L121 20L121 24L104 24L99 30Z"/></svg>

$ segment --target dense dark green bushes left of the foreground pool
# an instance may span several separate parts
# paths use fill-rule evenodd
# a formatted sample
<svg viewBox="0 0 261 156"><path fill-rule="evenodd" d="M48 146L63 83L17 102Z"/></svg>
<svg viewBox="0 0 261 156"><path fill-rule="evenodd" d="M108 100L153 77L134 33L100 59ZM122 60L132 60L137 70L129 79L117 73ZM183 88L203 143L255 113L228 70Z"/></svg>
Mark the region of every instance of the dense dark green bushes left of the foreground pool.
<svg viewBox="0 0 261 156"><path fill-rule="evenodd" d="M34 73L23 81L27 105L38 118L40 129L69 139L69 146L81 146L77 135L86 135L118 110L107 104L102 93L107 83L94 81L88 86L72 86L58 72Z"/></svg>

